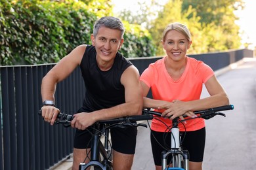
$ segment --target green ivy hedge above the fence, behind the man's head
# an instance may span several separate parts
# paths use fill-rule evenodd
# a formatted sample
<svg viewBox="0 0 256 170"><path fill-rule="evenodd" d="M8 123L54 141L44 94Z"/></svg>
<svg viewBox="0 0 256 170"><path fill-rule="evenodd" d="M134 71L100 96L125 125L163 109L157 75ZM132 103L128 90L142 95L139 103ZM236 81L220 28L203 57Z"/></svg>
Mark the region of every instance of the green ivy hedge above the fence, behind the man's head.
<svg viewBox="0 0 256 170"><path fill-rule="evenodd" d="M0 0L0 63L55 63L79 44L91 44L98 16L81 1ZM125 24L120 50L127 58L154 56L151 37L139 25Z"/></svg>

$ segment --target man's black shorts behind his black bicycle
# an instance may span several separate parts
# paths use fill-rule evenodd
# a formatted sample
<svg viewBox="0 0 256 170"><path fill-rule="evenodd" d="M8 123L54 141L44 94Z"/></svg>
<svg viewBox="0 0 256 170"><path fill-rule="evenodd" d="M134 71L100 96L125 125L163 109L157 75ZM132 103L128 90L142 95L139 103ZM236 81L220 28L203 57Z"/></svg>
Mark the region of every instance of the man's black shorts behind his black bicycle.
<svg viewBox="0 0 256 170"><path fill-rule="evenodd" d="M112 148L122 154L135 154L137 127L114 127L110 129ZM91 148L91 133L77 129L74 148Z"/></svg>

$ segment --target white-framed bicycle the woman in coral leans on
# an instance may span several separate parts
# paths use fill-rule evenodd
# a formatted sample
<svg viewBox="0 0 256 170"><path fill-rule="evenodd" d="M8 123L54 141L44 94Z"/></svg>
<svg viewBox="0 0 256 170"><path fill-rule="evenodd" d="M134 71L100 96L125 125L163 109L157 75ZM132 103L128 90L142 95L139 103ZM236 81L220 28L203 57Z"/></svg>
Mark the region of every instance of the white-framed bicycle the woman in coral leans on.
<svg viewBox="0 0 256 170"><path fill-rule="evenodd" d="M208 120L210 118L213 118L214 116L226 116L220 111L224 110L233 110L234 105L224 105L221 107L215 107L211 109L206 110L198 110L194 111L194 114L199 114L196 118L204 118L205 120ZM161 116L161 112L156 112L151 109L143 110L143 114L153 114L155 116ZM187 117L186 115L183 116L184 118ZM184 120L180 120L179 118L174 118L172 120L172 127L171 130L171 149L166 151L163 151L161 153L161 169L162 170L188 170L189 169L189 152L188 150L182 149L182 142L181 142L181 136L179 131L178 124L184 121L192 120L194 118L186 118ZM172 156L172 164L173 167L167 167L167 158L168 156Z"/></svg>

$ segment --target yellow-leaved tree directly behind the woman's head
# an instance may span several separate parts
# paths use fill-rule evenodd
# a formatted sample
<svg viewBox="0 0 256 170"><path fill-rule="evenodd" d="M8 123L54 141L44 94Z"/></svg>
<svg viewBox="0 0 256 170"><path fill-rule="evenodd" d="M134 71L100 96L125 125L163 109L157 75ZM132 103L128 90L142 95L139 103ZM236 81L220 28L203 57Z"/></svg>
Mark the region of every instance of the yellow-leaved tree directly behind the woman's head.
<svg viewBox="0 0 256 170"><path fill-rule="evenodd" d="M188 16L190 16L189 19ZM182 11L182 1L168 1L164 5L163 10L158 13L158 18L152 22L154 27L150 29L152 39L158 47L156 54L164 54L163 47L161 45L162 33L165 27L173 22L181 22L182 24L187 25L192 37L196 37L193 41L192 48L190 48L191 53L205 51L205 43L198 43L205 41L202 35L202 25L199 23L199 20L200 17L197 16L196 9L189 7L187 10Z"/></svg>

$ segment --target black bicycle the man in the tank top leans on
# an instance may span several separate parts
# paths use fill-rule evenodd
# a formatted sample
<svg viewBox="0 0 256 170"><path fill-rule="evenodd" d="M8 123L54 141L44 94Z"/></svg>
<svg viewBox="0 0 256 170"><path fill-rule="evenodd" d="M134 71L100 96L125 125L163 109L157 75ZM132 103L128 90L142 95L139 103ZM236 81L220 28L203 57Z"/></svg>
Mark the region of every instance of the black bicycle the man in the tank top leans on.
<svg viewBox="0 0 256 170"><path fill-rule="evenodd" d="M41 114L41 110L39 110ZM71 114L59 113L54 124L63 124L64 127L69 127L70 122L73 120ZM109 132L112 127L125 127L125 126L143 126L146 124L139 123L140 120L152 120L152 114L142 114L137 116L126 116L123 118L115 118L111 120L100 120L95 122L93 126L88 127L87 130L91 131L91 153L90 161L88 163L80 163L79 170L89 169L94 167L95 170L110 170L112 169L112 146L109 140ZM104 140L100 140L104 137ZM87 156L89 153L87 153ZM88 156L89 158L89 156Z"/></svg>

